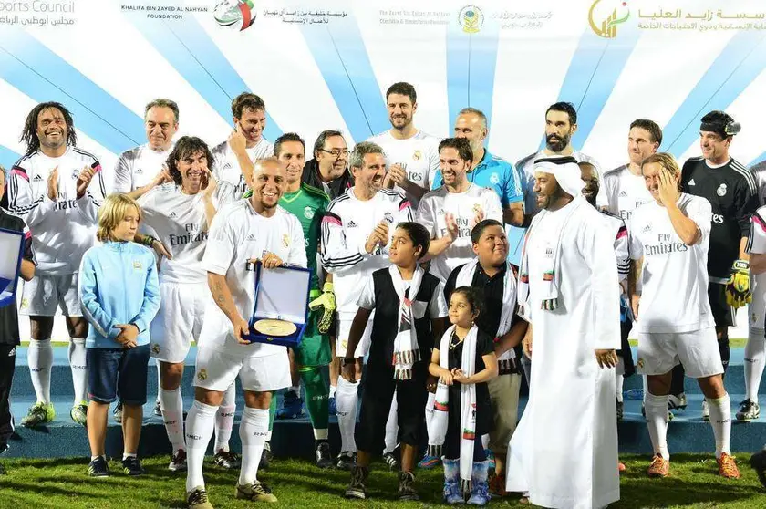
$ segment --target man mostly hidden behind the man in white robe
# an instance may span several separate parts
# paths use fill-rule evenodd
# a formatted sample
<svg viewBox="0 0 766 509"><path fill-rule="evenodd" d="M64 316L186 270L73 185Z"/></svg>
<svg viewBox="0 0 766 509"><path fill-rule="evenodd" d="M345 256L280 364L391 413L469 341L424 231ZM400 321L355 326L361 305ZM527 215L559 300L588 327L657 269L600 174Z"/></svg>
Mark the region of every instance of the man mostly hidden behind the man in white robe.
<svg viewBox="0 0 766 509"><path fill-rule="evenodd" d="M595 198L598 195L598 173L595 171L595 167L590 162L580 162L580 175L585 182L583 188L583 196L588 203L596 206ZM597 207L596 207L597 208ZM630 253L628 251L628 239L627 228L625 221L617 217L613 213L602 210L606 226L616 233L615 236L615 255L617 260L617 274L620 281L620 349L617 350L617 356L619 362L615 368L615 386L617 397L617 421L622 421L623 411L625 409L625 402L623 401L623 382L625 376L630 376L636 372L636 367L633 365L633 355L630 351L630 343L628 341L628 335L630 334L630 328L632 327L632 320L630 319L631 313L628 312L630 308L627 300L627 274L630 267Z"/></svg>

